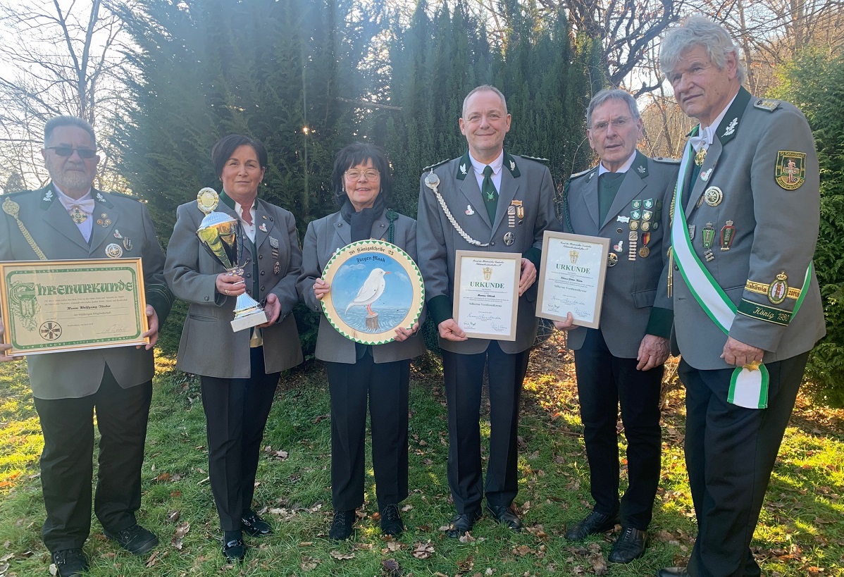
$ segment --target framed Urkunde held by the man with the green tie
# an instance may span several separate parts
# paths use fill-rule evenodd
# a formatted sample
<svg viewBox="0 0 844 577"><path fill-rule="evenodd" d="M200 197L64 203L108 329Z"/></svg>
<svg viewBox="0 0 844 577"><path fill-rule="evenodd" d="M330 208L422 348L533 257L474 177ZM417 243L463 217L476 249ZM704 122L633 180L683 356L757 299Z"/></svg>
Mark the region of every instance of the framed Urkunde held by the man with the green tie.
<svg viewBox="0 0 844 577"><path fill-rule="evenodd" d="M516 340L521 273L517 252L455 253L454 320L467 337Z"/></svg>

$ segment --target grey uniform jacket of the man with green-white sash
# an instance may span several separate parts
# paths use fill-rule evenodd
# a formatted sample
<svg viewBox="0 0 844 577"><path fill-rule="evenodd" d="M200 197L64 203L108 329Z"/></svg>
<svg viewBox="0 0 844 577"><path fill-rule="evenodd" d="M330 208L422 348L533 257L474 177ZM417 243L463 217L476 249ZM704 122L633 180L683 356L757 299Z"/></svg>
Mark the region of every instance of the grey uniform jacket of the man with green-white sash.
<svg viewBox="0 0 844 577"><path fill-rule="evenodd" d="M802 174L783 174L794 155ZM701 177L691 184L684 183L682 209L695 227L692 247L738 307L730 336L764 349L766 363L813 348L825 334L814 274L793 317L796 299L775 304L755 292L760 285L775 283L781 273L789 287L801 288L814 255L820 221L818 157L803 114L787 102L761 100L740 89L717 128ZM702 199L711 187L721 194L711 191L708 200ZM728 221L734 235L722 251L721 232ZM702 234L707 224L715 229L714 258L708 262ZM674 335L679 352L695 369L730 366L719 358L727 336L701 309L676 268Z"/></svg>

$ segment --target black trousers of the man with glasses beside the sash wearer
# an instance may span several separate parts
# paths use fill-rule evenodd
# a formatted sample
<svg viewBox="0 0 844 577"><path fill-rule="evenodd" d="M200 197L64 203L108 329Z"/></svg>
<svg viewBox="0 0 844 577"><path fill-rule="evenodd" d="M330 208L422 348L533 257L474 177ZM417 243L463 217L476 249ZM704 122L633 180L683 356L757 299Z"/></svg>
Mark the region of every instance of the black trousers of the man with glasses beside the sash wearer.
<svg viewBox="0 0 844 577"><path fill-rule="evenodd" d="M587 331L582 348L575 351L575 371L595 510L603 515L619 512L622 526L645 531L659 485L659 389L664 368L636 370L636 359L619 359L609 352L600 330L577 330ZM628 478L620 507L619 403L627 438Z"/></svg>

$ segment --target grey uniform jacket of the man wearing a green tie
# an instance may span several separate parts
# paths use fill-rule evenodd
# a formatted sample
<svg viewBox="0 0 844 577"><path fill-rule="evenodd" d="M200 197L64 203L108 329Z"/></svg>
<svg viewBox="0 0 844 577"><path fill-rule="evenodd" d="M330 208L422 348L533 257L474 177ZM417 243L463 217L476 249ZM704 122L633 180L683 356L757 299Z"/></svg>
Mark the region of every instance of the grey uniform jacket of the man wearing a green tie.
<svg viewBox="0 0 844 577"><path fill-rule="evenodd" d="M441 302L447 302L449 306L452 304L456 251L515 252L524 255L533 248L535 251L531 253L538 255L538 251L542 250L544 231L559 229L559 223L554 211L551 174L544 164L535 160L513 156L505 151L495 223L490 223L468 153L462 158L440 164L433 170L440 178L438 190L457 223L474 240L490 243L489 246L480 247L464 240L449 222L434 191L425 186L425 175L422 175L417 215L419 268L425 279L428 314L433 315L436 322L441 322L445 319L438 318L436 303L431 305L431 301L439 297ZM522 202L524 213L522 218L515 218L511 228L507 207L513 201ZM510 245L505 242L508 233L511 233L513 240ZM538 257L534 258L538 262ZM499 341L505 353L521 353L533 344L538 326L535 315L536 289L534 283L519 298L516 341ZM480 338L469 338L463 342L440 339L440 347L452 353L483 353L489 344L489 340Z"/></svg>

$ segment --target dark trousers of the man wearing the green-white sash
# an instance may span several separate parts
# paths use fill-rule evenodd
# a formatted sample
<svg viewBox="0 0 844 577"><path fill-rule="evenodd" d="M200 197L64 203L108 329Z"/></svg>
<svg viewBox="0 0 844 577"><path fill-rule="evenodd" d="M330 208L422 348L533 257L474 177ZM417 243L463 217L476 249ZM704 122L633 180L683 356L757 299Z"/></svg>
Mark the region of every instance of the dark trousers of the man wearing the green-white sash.
<svg viewBox="0 0 844 577"><path fill-rule="evenodd" d="M808 359L803 353L765 365L771 375L765 409L727 402L733 369L698 370L680 361L686 466L698 527L689 559L693 577L761 574L750 539Z"/></svg>

